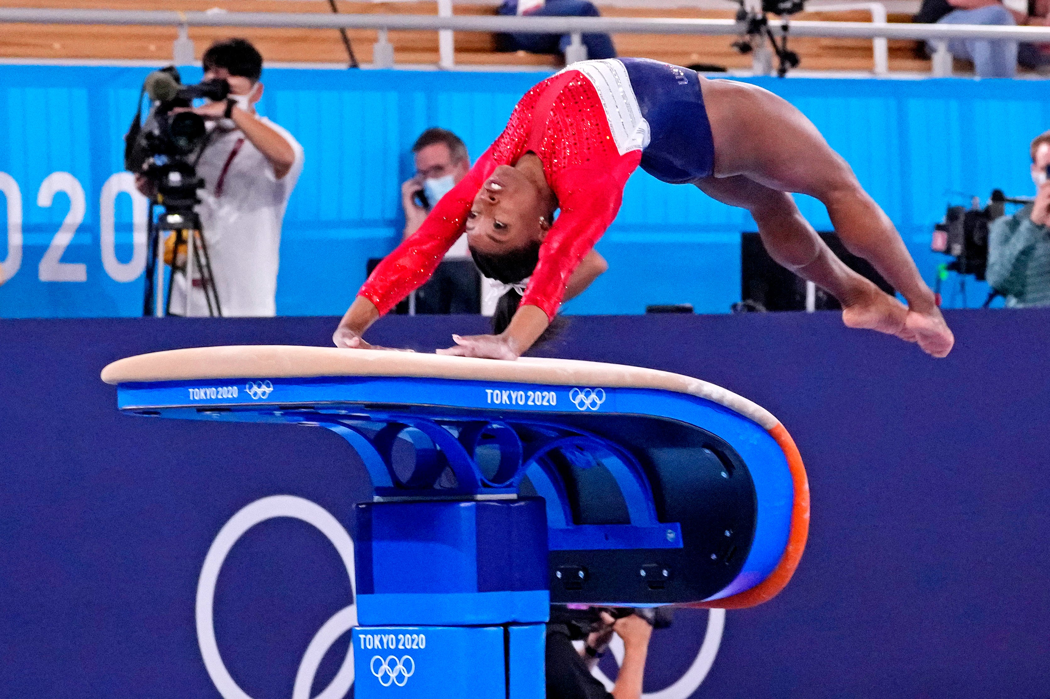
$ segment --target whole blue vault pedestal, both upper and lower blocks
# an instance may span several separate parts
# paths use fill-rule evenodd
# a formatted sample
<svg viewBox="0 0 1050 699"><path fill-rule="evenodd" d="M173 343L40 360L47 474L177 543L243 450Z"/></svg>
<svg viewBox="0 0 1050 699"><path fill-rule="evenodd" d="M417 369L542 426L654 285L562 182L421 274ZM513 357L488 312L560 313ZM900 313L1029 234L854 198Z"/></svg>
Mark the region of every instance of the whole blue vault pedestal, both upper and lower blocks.
<svg viewBox="0 0 1050 699"><path fill-rule="evenodd" d="M358 503L355 696L543 699L540 497Z"/></svg>

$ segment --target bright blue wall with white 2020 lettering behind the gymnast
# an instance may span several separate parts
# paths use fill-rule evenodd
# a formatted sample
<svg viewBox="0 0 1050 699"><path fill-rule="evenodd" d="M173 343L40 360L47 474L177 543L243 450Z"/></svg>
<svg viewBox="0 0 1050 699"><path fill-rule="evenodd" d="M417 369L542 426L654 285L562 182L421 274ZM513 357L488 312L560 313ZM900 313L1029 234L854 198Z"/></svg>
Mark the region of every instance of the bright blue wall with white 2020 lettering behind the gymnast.
<svg viewBox="0 0 1050 699"><path fill-rule="evenodd" d="M141 312L144 248L133 250L132 219L141 230L145 210L133 215L131 181L121 171L122 135L147 71L0 66L0 259L14 273L0 288L0 317ZM267 69L260 110L306 149L285 220L277 312L342 313L365 259L398 239L399 186L413 172L416 136L443 126L477 156L543 76ZM928 250L946 204L994 187L1032 193L1027 146L1050 125L1045 81L751 82L813 120L901 230L928 281L947 259ZM831 230L823 207L800 199L814 226ZM640 313L667 302L726 312L739 300L739 233L749 230L742 211L638 172L598 243L610 272L567 312ZM986 291L971 283L969 304ZM964 302L946 294L949 306Z"/></svg>

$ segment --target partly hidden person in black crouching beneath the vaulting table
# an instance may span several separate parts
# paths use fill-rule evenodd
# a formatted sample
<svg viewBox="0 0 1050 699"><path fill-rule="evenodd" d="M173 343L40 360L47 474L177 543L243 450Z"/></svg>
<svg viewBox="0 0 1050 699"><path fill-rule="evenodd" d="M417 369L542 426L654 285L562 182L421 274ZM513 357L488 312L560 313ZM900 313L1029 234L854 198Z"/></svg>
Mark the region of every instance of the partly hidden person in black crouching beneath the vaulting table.
<svg viewBox="0 0 1050 699"><path fill-rule="evenodd" d="M642 679L649 653L652 624L631 613L614 618L608 611L600 614L600 623L587 635L582 650L572 644L569 624L547 624L547 699L639 699ZM612 693L591 674L605 654L612 634L624 641L624 661Z"/></svg>

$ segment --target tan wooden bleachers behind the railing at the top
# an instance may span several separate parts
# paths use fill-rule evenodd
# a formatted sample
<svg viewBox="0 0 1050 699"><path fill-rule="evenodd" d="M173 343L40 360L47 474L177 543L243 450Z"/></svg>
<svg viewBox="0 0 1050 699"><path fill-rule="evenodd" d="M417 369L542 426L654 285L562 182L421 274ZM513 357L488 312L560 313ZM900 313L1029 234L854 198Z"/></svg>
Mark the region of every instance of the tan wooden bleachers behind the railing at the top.
<svg viewBox="0 0 1050 699"><path fill-rule="evenodd" d="M436 2L349 2L337 0L345 14L436 15ZM169 9L228 12L330 13L328 3L318 0L6 0L5 6L78 9ZM491 5L455 6L458 15L489 15ZM731 12L666 9L639 7L603 7L607 17L732 18ZM864 12L802 13L796 19L827 21L869 21ZM890 22L907 22L906 15L890 15ZM376 31L348 30L354 51L362 63L372 62ZM250 39L269 62L344 63L345 49L335 30L191 27L197 57L219 38L243 36ZM138 59L170 60L175 27L85 26L0 24L0 58L10 59ZM751 57L735 51L731 37L682 35L615 35L621 56L639 56L669 63L689 65L708 63L730 68L748 68ZM436 31L391 31L395 60L400 64L436 64ZM891 71L928 72L929 61L915 57L916 42L889 42ZM861 39L793 39L791 48L802 60L800 67L810 70L872 70L872 41ZM456 63L460 65L559 65L553 56L525 52L498 52L491 34L456 33Z"/></svg>

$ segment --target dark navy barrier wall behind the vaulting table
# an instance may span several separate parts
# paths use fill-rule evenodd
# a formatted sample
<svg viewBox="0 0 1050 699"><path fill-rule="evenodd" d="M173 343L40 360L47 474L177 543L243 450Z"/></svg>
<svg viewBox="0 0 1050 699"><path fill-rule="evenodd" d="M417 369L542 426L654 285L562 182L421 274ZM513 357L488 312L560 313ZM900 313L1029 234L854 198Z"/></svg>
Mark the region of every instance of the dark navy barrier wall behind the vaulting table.
<svg viewBox="0 0 1050 699"><path fill-rule="evenodd" d="M1050 311L946 317L959 341L937 361L831 313L578 317L548 347L724 385L806 454L818 516L792 584L755 611L677 612L648 692L1045 695ZM334 323L0 321L0 695L238 696L202 645L252 699L293 696L302 669L310 696L338 694L364 466L327 430L121 416L98 380L158 350L324 344ZM483 323L374 333L424 351Z"/></svg>

